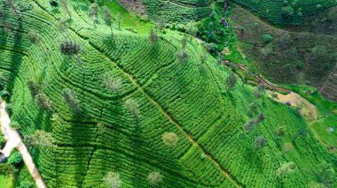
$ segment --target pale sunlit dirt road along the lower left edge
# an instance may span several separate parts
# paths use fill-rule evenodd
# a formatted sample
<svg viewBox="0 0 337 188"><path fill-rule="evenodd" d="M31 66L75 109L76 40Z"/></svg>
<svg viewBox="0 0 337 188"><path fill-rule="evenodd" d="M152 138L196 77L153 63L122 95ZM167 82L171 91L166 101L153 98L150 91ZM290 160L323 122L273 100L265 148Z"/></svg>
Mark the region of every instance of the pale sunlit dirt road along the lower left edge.
<svg viewBox="0 0 337 188"><path fill-rule="evenodd" d="M27 147L22 142L19 133L10 127L11 119L8 116L7 111L4 109L6 103L0 98L0 124L1 124L1 132L4 135L4 139L6 140L6 145L2 152L6 157L11 154L11 151L14 147L16 147L20 154L22 154L23 161L25 162L29 173L35 180L35 184L38 188L46 188L46 184L44 184L43 178L35 167L35 163L33 161L32 156L29 154Z"/></svg>

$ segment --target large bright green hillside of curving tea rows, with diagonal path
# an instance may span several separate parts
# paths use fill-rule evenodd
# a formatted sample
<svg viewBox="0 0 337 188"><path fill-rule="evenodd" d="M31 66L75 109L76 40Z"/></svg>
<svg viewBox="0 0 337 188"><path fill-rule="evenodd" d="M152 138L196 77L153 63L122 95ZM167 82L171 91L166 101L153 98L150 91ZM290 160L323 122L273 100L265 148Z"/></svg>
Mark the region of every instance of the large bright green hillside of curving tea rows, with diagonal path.
<svg viewBox="0 0 337 188"><path fill-rule="evenodd" d="M210 55L203 63L200 41L187 41L182 64L176 55L183 34L169 31L152 43L150 23L132 32L114 21L112 36L102 9L93 24L89 1L70 1L71 20L58 2L53 7L45 0L15 1L19 16L0 0L5 15L0 76L10 96L2 94L11 103L12 126L24 138L37 130L51 132L53 151L30 150L48 187L107 187L108 172L119 173L121 187L337 186L336 177L324 171L324 162L337 169L336 153L315 139L302 116L266 94L256 99L256 88L243 86L239 78L228 91L231 71ZM166 9L175 4L164 15L168 19L182 19L176 15L185 9L198 10L200 17L211 11L204 6L209 1L147 4L153 2ZM204 8L191 8L195 4ZM121 17L131 18L126 12ZM135 27L143 24L132 21ZM37 43L28 40L30 32ZM66 40L80 45L79 55L61 53ZM108 88L106 77L118 86ZM36 104L28 81L39 86L51 109ZM258 104L255 110L252 103ZM248 132L247 123L261 113L265 119ZM176 145L165 145L167 132L176 133ZM262 137L265 146L256 146ZM159 185L149 182L151 172L161 173Z"/></svg>

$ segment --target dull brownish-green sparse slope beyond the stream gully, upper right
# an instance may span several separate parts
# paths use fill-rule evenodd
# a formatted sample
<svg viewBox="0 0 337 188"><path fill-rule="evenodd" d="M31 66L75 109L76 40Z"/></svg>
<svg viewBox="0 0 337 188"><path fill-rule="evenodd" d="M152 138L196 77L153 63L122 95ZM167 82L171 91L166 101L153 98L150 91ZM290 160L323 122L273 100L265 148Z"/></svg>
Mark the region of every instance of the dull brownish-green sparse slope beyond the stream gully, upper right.
<svg viewBox="0 0 337 188"><path fill-rule="evenodd" d="M318 89L323 86L336 64L335 35L286 31L264 23L239 6L232 11L240 48L263 76L275 83L306 84ZM272 37L269 44L263 42L265 34ZM323 52L314 53L315 48ZM271 49L270 53L264 54L264 49Z"/></svg>

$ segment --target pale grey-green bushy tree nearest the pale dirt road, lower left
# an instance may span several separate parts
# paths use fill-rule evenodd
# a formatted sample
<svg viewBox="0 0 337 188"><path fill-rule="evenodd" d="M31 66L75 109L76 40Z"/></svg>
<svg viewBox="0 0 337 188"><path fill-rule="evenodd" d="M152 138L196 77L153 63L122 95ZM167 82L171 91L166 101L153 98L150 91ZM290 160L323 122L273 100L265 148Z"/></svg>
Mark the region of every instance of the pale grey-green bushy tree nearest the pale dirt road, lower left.
<svg viewBox="0 0 337 188"><path fill-rule="evenodd" d="M27 145L32 147L39 147L44 149L53 149L56 146L53 144L55 142L54 138L51 136L50 132L44 132L42 130L37 130L34 134L29 135L25 138Z"/></svg>

